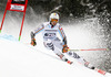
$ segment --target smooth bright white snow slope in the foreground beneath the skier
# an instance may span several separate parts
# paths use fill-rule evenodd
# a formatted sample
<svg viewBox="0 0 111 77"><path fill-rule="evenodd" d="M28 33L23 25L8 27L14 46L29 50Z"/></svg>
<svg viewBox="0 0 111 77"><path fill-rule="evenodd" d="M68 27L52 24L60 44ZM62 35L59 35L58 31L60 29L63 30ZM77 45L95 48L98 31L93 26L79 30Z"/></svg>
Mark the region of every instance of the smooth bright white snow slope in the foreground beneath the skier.
<svg viewBox="0 0 111 77"><path fill-rule="evenodd" d="M23 44L11 35L0 36L0 77L104 77L73 62L69 65L52 51Z"/></svg>

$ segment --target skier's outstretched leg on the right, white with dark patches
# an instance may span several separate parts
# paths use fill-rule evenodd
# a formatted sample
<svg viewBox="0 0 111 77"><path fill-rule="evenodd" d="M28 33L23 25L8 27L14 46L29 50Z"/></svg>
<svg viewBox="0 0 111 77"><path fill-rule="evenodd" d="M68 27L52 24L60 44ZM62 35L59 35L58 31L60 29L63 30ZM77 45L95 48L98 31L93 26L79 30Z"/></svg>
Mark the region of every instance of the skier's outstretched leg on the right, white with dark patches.
<svg viewBox="0 0 111 77"><path fill-rule="evenodd" d="M89 62L87 62L85 59L80 57L77 53L69 51L69 52L67 52L67 54L74 57L80 64L84 65L85 67L94 69L93 65L91 65Z"/></svg>

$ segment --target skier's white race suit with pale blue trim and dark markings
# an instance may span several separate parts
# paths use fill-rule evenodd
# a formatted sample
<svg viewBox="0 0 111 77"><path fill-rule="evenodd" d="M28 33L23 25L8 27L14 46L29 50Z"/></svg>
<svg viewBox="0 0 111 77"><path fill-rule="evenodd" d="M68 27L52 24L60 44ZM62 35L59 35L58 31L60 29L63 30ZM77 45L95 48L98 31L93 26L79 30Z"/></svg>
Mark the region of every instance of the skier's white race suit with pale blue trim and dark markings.
<svg viewBox="0 0 111 77"><path fill-rule="evenodd" d="M41 31L44 46L49 50L52 50L57 55L61 55L63 45L67 44L67 36L60 24L57 23L53 28L51 28L50 22L46 22L40 28L34 30L33 33L38 34ZM79 63L83 65L85 64L85 61L74 52L69 51L67 54L78 59Z"/></svg>

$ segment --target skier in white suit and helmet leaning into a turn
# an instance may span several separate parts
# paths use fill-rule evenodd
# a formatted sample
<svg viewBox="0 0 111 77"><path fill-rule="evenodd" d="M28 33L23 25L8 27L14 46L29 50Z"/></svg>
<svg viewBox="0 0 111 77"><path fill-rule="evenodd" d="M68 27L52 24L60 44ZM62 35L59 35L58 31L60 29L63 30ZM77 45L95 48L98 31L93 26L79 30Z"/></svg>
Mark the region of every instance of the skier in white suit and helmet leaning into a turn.
<svg viewBox="0 0 111 77"><path fill-rule="evenodd" d="M67 36L63 32L63 29L59 24L58 13L51 13L49 22L43 23L40 28L31 32L31 45L37 45L34 36L40 31L42 31L44 46L49 50L52 50L62 61L72 64L72 62L64 57L63 53L67 53L68 55L74 57L80 64L91 69L94 69L94 67L91 64L89 64L78 54L69 51L69 47L67 45ZM61 35L62 41L59 38L58 33Z"/></svg>

